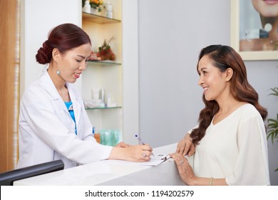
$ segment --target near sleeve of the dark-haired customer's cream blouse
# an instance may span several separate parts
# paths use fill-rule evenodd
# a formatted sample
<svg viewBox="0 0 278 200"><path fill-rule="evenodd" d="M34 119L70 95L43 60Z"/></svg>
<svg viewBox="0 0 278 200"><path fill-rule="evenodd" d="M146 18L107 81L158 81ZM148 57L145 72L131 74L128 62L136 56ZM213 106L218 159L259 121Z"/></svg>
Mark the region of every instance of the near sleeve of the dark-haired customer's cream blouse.
<svg viewBox="0 0 278 200"><path fill-rule="evenodd" d="M269 185L267 138L261 116L242 118L237 131L238 158L229 185Z"/></svg>

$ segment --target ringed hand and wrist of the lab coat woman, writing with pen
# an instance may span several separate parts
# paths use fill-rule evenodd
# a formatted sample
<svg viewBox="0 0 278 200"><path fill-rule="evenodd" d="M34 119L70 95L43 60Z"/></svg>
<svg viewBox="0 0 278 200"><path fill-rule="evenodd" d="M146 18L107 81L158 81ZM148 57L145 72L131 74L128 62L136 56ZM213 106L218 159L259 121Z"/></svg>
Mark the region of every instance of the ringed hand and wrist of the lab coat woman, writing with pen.
<svg viewBox="0 0 278 200"><path fill-rule="evenodd" d="M108 159L125 161L150 161L153 149L146 145L128 146L125 148L113 147Z"/></svg>

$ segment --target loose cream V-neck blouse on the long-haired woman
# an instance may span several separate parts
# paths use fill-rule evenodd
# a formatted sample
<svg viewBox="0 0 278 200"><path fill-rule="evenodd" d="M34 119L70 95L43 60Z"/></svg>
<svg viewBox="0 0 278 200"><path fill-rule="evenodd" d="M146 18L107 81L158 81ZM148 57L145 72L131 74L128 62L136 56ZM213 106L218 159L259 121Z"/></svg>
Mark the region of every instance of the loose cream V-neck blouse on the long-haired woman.
<svg viewBox="0 0 278 200"><path fill-rule="evenodd" d="M225 178L229 185L270 184L264 122L252 104L211 122L190 159L199 177Z"/></svg>

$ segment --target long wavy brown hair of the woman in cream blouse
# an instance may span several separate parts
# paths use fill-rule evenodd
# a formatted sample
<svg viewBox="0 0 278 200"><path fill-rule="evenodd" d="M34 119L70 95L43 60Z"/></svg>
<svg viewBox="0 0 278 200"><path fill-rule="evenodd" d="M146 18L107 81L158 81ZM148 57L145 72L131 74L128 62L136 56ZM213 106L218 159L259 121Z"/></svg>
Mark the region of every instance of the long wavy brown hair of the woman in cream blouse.
<svg viewBox="0 0 278 200"><path fill-rule="evenodd" d="M232 78L230 79L230 91L237 101L247 102L252 104L262 119L267 117L267 109L261 106L258 102L259 95L257 91L247 81L247 71L242 61L242 58L237 52L230 46L224 45L211 45L207 46L200 51L198 64L203 56L209 56L213 66L217 67L220 71L224 72L226 69L231 68L233 70ZM197 64L197 70L198 70ZM205 108L200 111L199 127L193 129L190 137L192 142L196 145L205 136L205 131L212 121L213 116L219 111L219 106L215 100L205 100L205 95L202 95L202 101L205 103Z"/></svg>

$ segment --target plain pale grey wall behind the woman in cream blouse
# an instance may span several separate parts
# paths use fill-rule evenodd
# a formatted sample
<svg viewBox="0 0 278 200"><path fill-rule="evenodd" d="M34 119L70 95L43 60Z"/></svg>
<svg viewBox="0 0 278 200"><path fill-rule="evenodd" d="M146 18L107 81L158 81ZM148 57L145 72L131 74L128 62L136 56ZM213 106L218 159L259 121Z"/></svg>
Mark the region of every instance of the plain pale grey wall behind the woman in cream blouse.
<svg viewBox="0 0 278 200"><path fill-rule="evenodd" d="M197 123L203 108L197 56L207 45L230 45L230 0L140 0L138 11L140 134L156 147L179 141ZM260 103L276 116L278 99L268 94L278 86L278 61L245 64ZM269 141L272 185L278 185L277 153L278 143Z"/></svg>

